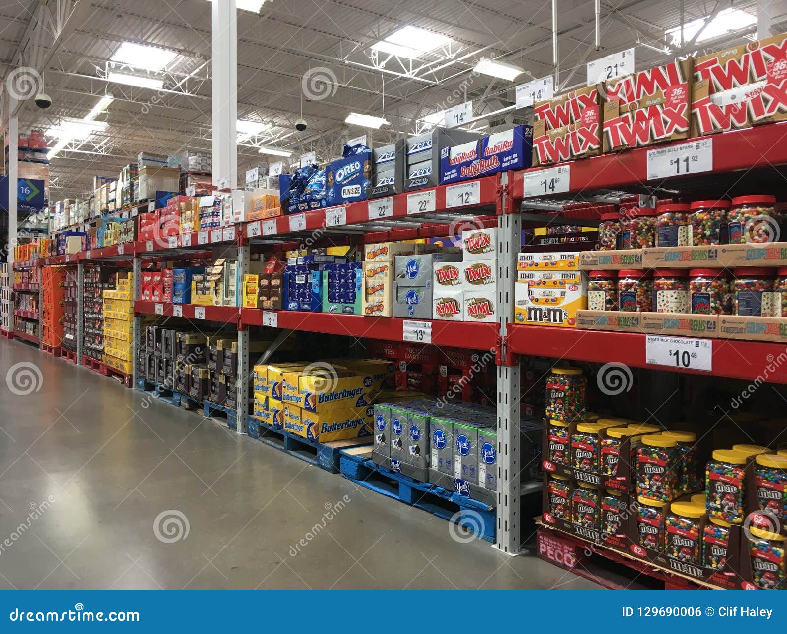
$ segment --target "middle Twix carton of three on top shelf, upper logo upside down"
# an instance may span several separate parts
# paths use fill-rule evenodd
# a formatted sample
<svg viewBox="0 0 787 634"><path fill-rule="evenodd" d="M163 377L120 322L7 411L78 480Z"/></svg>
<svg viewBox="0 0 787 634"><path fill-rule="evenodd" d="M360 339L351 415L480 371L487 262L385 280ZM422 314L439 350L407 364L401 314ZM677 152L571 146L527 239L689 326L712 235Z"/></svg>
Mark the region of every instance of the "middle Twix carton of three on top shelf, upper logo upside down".
<svg viewBox="0 0 787 634"><path fill-rule="evenodd" d="M608 82L604 152L688 138L692 66L674 61Z"/></svg>

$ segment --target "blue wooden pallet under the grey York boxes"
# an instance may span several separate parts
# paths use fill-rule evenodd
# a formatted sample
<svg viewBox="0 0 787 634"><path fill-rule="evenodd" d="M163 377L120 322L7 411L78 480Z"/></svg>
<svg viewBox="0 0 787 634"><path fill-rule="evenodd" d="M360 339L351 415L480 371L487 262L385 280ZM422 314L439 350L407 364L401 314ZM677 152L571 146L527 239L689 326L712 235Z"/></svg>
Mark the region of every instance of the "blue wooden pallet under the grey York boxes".
<svg viewBox="0 0 787 634"><path fill-rule="evenodd" d="M371 460L371 449L366 452L342 451L339 469L344 477L358 485L438 518L456 522L486 541L495 541L497 514L493 507L379 466Z"/></svg>

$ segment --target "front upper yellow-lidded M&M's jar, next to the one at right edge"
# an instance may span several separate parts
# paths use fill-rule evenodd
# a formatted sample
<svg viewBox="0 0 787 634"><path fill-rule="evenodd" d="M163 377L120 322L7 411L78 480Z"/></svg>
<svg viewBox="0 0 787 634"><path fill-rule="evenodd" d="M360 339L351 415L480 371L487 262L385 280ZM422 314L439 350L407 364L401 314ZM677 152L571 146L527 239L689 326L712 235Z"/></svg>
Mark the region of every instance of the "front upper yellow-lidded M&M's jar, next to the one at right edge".
<svg viewBox="0 0 787 634"><path fill-rule="evenodd" d="M705 466L705 510L709 518L743 524L745 466L748 456L733 449L716 449Z"/></svg>

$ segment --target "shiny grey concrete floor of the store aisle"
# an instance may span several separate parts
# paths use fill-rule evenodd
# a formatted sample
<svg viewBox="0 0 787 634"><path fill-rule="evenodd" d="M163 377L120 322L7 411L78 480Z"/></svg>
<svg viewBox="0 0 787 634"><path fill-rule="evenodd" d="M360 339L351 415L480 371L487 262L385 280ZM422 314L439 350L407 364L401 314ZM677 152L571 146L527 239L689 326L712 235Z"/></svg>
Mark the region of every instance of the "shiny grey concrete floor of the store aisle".
<svg viewBox="0 0 787 634"><path fill-rule="evenodd" d="M0 372L0 588L597 588L20 341Z"/></svg>

